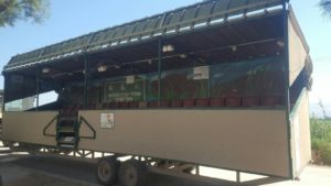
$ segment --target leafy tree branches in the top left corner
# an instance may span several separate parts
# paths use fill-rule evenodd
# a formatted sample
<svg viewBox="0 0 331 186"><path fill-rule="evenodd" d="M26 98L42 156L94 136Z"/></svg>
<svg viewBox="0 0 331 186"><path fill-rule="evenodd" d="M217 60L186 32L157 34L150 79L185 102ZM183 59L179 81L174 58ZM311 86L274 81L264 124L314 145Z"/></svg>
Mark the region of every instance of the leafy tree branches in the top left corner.
<svg viewBox="0 0 331 186"><path fill-rule="evenodd" d="M47 17L49 0L0 0L0 28L19 20L41 23Z"/></svg>

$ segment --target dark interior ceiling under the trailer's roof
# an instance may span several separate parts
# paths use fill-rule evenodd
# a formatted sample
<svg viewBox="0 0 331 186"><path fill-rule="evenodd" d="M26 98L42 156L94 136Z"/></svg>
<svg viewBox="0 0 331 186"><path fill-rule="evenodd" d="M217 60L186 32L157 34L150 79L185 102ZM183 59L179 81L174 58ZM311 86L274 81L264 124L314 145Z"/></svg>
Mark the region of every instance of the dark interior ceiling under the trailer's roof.
<svg viewBox="0 0 331 186"><path fill-rule="evenodd" d="M282 37L282 15L277 13L249 21L233 21L188 34L169 34L163 44L173 45L174 51L162 53L162 57L166 57L162 59L162 69L279 55L282 48L277 41ZM180 54L185 54L185 58L180 57ZM158 40L149 40L127 47L93 53L87 58L81 55L29 70L23 69L20 74L35 76L36 72L47 67L51 72L42 75L44 79L78 80L84 78L84 62L88 59L94 78L115 77L157 72L157 57ZM96 68L100 64L107 65L108 70L97 73Z"/></svg>

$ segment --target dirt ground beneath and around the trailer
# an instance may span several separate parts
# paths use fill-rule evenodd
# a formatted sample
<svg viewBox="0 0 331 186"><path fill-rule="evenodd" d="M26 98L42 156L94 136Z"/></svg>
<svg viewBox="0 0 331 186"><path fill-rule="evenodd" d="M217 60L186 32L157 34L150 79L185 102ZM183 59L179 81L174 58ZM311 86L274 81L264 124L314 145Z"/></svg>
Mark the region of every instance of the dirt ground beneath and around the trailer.
<svg viewBox="0 0 331 186"><path fill-rule="evenodd" d="M28 153L10 153L7 149L0 147L2 186L99 186L96 184L94 168L94 165L86 162L29 156ZM215 168L201 167L201 175L235 180L235 173ZM330 166L309 165L302 172L300 180L280 180L244 173L241 175L241 184L228 182L220 184L149 174L146 186L330 186L331 183Z"/></svg>

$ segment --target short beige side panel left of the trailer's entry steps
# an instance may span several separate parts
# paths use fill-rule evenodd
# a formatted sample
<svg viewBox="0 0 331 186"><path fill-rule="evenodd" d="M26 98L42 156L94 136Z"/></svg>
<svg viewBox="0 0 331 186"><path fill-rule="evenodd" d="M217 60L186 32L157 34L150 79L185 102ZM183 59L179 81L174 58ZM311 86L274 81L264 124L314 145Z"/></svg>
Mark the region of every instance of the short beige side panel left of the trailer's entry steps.
<svg viewBox="0 0 331 186"><path fill-rule="evenodd" d="M57 111L4 112L2 136L8 141L56 145L55 136L43 135L43 130L57 116ZM56 134L56 120L46 130Z"/></svg>

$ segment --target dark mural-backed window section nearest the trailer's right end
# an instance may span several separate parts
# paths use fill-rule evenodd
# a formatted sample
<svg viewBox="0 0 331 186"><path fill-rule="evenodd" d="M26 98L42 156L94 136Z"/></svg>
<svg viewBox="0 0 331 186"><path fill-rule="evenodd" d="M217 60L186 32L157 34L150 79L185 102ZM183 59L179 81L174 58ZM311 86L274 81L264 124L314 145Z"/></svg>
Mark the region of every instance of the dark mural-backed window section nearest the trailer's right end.
<svg viewBox="0 0 331 186"><path fill-rule="evenodd" d="M211 96L282 95L281 59L278 57L224 63L211 68Z"/></svg>

